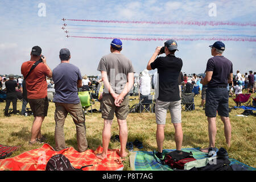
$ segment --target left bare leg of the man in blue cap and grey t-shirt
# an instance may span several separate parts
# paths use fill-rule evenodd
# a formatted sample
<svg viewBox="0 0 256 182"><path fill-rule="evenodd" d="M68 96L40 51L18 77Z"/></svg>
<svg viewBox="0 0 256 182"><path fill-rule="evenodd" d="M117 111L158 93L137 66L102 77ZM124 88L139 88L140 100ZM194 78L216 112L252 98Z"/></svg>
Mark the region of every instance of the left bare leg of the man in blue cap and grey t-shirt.
<svg viewBox="0 0 256 182"><path fill-rule="evenodd" d="M100 159L106 159L108 154L108 148L109 148L109 141L111 137L111 126L112 126L113 120L107 120L104 119L104 129L102 131L102 147L103 151L101 154L97 154L97 158Z"/></svg>

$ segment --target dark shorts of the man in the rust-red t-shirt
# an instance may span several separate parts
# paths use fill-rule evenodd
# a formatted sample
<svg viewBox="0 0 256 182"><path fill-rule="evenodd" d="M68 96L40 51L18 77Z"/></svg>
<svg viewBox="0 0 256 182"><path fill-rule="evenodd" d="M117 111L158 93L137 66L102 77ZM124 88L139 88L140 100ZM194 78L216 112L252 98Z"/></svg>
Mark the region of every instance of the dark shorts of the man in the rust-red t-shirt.
<svg viewBox="0 0 256 182"><path fill-rule="evenodd" d="M46 117L48 112L48 98L39 98L39 99L30 99L28 98L28 103L30 104L30 108L34 117Z"/></svg>

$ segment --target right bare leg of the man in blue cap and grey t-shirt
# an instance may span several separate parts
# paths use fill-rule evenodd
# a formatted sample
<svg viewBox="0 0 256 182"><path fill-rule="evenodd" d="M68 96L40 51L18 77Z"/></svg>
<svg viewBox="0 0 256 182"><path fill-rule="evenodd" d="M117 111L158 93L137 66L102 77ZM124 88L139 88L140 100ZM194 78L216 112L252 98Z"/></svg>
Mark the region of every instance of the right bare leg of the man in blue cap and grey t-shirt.
<svg viewBox="0 0 256 182"><path fill-rule="evenodd" d="M128 137L128 129L127 129L127 122L126 120L117 119L118 125L119 125L119 139L120 139L120 156L121 158L124 158L128 155L126 152L126 143L127 143L127 137Z"/></svg>

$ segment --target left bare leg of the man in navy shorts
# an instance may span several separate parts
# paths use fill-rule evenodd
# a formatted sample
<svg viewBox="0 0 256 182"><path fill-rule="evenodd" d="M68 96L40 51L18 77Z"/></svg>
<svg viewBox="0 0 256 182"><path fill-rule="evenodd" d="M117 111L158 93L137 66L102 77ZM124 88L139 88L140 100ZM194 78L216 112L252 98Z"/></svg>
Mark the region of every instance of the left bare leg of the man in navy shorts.
<svg viewBox="0 0 256 182"><path fill-rule="evenodd" d="M217 134L216 117L214 118L207 117L207 120L208 120L208 133L209 133L209 147L202 149L201 150L202 152L208 152L208 149L210 147L215 146L215 138Z"/></svg>

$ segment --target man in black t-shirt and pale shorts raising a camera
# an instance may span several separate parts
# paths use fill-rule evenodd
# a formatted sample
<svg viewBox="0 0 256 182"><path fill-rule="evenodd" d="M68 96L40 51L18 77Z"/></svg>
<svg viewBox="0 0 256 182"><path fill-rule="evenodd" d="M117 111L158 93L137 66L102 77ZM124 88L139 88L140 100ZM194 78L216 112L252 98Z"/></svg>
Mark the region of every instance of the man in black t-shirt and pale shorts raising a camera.
<svg viewBox="0 0 256 182"><path fill-rule="evenodd" d="M177 42L175 40L167 40L164 43L164 53L166 57L158 57L161 47L156 47L154 54L148 61L147 69L158 69L159 76L159 96L156 98L155 117L156 117L156 143L158 152L156 156L159 159L163 158L163 142L164 142L164 127L166 124L167 110L170 110L171 122L175 128L176 149L181 150L183 131L181 126L181 100L179 94L179 74L183 65L180 58L176 57ZM163 53L163 52L161 52Z"/></svg>

